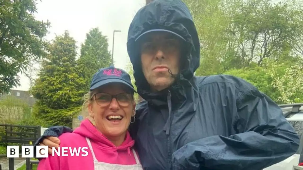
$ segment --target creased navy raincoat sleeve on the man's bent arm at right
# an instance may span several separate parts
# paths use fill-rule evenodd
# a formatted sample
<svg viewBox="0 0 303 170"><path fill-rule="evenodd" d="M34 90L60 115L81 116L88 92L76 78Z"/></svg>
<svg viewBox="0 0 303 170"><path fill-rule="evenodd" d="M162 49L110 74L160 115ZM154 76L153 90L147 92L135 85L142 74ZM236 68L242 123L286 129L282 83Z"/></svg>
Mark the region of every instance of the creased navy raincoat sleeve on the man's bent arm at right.
<svg viewBox="0 0 303 170"><path fill-rule="evenodd" d="M184 145L173 153L175 170L256 170L296 153L298 134L280 107L244 83L230 92L235 101L228 102L236 103L230 106L237 108L237 113L230 115L234 117L230 126L236 133L227 137L210 136Z"/></svg>

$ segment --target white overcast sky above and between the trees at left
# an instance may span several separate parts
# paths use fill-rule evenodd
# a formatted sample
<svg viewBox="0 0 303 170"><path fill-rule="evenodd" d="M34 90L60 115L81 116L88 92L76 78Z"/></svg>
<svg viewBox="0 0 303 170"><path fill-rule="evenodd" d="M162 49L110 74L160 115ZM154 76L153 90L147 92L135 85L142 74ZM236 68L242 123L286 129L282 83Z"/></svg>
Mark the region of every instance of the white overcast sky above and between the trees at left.
<svg viewBox="0 0 303 170"><path fill-rule="evenodd" d="M37 20L48 19L51 22L48 40L68 30L78 47L84 42L86 33L98 27L108 37L108 50L112 51L113 30L121 30L115 33L114 60L116 67L125 69L129 61L126 50L128 27L135 13L144 5L145 0L42 0L38 1L35 16ZM13 89L29 90L28 78L19 76L21 86Z"/></svg>

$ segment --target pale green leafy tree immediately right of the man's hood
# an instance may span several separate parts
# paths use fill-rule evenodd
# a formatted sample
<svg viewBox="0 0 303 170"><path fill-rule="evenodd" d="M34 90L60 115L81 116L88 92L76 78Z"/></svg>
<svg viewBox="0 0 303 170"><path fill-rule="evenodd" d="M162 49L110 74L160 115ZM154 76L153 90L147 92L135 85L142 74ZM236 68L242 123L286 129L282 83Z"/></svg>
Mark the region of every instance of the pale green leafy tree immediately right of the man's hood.
<svg viewBox="0 0 303 170"><path fill-rule="evenodd" d="M222 35L229 24L220 8L221 0L183 0L191 11L201 43L201 64L196 75L223 72L221 57L228 54L227 41Z"/></svg>

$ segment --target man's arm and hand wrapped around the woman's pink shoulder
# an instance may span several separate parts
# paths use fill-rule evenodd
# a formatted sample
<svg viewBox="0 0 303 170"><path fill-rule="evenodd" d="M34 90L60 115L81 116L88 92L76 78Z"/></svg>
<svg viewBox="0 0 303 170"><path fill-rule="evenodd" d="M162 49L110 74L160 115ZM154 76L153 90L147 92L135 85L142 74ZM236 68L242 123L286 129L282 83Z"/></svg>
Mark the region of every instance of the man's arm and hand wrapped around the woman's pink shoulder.
<svg viewBox="0 0 303 170"><path fill-rule="evenodd" d="M58 145L60 144L60 140L58 139L58 137L65 132L73 132L73 130L66 126L52 126L46 129L43 135L34 144L34 157L36 158L35 153L36 153L37 145L48 145L48 153L52 153L52 147L57 148ZM53 138L49 138L49 137L53 137Z"/></svg>

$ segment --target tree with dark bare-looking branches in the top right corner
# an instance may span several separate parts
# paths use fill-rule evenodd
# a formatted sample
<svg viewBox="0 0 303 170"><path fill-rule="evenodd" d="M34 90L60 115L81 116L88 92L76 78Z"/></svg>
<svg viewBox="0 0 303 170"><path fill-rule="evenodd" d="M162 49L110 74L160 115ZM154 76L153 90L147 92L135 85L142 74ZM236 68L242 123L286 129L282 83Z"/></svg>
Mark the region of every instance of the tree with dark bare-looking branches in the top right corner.
<svg viewBox="0 0 303 170"><path fill-rule="evenodd" d="M262 64L265 58L278 60L301 33L302 12L291 8L289 2L274 4L271 0L227 0L224 10L232 21L227 33L235 38L236 55L242 66L252 62Z"/></svg>

